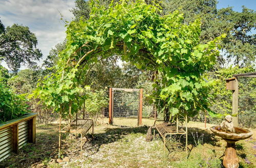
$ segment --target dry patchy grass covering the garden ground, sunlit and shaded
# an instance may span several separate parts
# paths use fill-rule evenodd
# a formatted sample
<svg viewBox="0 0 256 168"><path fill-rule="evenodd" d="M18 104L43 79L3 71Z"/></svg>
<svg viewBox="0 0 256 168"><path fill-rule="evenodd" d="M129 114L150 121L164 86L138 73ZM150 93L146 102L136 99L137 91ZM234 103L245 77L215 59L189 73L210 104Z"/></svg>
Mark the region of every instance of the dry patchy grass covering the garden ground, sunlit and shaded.
<svg viewBox="0 0 256 168"><path fill-rule="evenodd" d="M101 122L101 121L100 121ZM95 139L83 146L83 158L80 154L79 138L63 139L61 157L69 157L69 162L57 163L58 132L57 124L45 127L37 126L37 143L28 144L19 155L9 157L2 166L9 167L221 167L225 151L225 142L209 131L210 124L204 128L204 123L189 122L188 146L189 154L172 152L168 157L163 153L163 142L160 137L154 141L145 142L147 126L153 125L154 120L143 119L141 127L137 119L116 119L115 124L134 126L120 128L106 124L95 127ZM204 134L203 142L195 145L191 132ZM256 141L255 133L250 139L237 143L241 167L255 167ZM197 140L197 139L196 139ZM54 160L51 160L54 159ZM0 164L1 167L1 164Z"/></svg>

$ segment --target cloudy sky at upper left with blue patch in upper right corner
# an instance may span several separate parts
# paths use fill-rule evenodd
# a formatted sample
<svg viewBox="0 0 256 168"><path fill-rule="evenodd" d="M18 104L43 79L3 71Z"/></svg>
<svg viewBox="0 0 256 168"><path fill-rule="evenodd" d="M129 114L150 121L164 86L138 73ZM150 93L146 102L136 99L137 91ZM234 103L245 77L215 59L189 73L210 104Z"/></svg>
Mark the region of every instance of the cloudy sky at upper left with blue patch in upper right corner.
<svg viewBox="0 0 256 168"><path fill-rule="evenodd" d="M39 48L44 55L38 62L45 60L49 51L66 37L65 23L60 20L72 20L69 11L75 6L74 0L0 0L0 20L5 26L13 23L26 25L35 33ZM256 10L256 0L219 0L217 8L233 7L235 11L242 11L242 6ZM3 64L3 63L2 63ZM3 64L6 68L7 65ZM25 69L23 66L20 69Z"/></svg>

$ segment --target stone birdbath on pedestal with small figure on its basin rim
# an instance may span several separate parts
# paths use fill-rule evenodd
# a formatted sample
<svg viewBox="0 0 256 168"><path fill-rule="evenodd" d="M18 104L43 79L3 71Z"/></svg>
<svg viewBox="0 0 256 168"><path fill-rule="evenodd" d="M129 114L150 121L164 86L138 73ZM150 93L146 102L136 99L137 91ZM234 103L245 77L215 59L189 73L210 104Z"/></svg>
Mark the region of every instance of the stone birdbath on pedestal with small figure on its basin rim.
<svg viewBox="0 0 256 168"><path fill-rule="evenodd" d="M231 121L230 121L231 119ZM233 127L232 117L230 115L225 117L221 126L210 127L210 130L217 136L222 137L227 142L225 156L223 158L223 165L226 168L239 167L239 160L236 152L235 143L242 139L247 139L252 136L252 132L241 127Z"/></svg>

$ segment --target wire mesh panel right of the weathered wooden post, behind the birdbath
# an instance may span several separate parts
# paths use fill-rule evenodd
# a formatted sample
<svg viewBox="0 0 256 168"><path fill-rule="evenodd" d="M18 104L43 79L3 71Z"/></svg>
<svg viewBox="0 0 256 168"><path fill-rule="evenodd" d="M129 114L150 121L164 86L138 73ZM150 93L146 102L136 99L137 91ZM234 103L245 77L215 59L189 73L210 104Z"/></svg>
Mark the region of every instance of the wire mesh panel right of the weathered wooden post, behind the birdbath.
<svg viewBox="0 0 256 168"><path fill-rule="evenodd" d="M238 76L238 123L243 127L256 127L256 78Z"/></svg>

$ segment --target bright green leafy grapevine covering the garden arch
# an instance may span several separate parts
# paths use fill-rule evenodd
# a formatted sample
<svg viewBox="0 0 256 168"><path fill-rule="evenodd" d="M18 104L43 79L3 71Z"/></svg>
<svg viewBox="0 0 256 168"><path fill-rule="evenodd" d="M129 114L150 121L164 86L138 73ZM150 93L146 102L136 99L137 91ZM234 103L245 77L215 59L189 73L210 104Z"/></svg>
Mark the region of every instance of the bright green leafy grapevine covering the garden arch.
<svg viewBox="0 0 256 168"><path fill-rule="evenodd" d="M186 24L178 11L162 16L159 4L144 1L120 1L109 8L91 2L91 9L89 19L69 24L56 73L41 82L35 95L65 115L70 101L74 109L82 103L80 83L87 80L93 65L121 55L122 60L161 75L154 85L161 111L194 116L207 108L209 83L202 75L215 65L221 38L200 43L199 19Z"/></svg>

